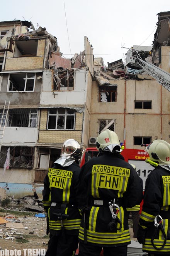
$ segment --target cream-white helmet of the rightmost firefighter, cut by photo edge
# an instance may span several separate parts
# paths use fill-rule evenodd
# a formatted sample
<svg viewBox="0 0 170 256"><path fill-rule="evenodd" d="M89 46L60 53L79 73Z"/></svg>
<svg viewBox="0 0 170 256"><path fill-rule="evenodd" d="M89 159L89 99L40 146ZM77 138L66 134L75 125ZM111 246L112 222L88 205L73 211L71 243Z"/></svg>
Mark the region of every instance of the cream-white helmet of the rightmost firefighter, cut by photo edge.
<svg viewBox="0 0 170 256"><path fill-rule="evenodd" d="M154 140L146 147L151 161L159 165L170 164L170 144L165 140Z"/></svg>

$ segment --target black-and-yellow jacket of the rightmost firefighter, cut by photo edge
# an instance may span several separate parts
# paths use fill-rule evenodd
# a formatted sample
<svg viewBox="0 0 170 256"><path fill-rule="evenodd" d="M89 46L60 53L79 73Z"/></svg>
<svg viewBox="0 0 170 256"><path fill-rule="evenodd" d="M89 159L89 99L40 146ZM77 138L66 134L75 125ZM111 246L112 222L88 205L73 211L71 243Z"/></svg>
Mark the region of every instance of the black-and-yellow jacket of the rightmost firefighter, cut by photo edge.
<svg viewBox="0 0 170 256"><path fill-rule="evenodd" d="M155 249L151 244L151 238L155 234L155 217L160 215L163 218L163 228L167 236L167 242L162 250ZM143 251L149 253L168 254L170 253L170 171L156 167L148 175L145 184L143 208L139 218L141 227L146 229L145 244ZM157 229L154 245L161 247L164 242L163 233Z"/></svg>

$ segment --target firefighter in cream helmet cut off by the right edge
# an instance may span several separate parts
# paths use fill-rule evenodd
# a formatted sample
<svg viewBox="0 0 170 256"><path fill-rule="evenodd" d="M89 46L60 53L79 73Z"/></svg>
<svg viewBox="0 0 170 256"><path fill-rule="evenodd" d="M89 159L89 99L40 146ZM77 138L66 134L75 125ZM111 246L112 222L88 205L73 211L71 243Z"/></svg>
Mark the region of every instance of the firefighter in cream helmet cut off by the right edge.
<svg viewBox="0 0 170 256"><path fill-rule="evenodd" d="M155 168L146 179L137 239L149 256L170 255L170 144L154 140L146 151Z"/></svg>

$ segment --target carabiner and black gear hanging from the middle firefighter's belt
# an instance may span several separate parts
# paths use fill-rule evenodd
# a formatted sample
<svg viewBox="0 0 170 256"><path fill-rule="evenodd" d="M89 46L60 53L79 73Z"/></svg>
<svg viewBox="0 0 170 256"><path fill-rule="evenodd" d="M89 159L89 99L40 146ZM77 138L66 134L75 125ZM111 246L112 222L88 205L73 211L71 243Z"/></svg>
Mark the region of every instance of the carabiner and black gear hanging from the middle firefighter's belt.
<svg viewBox="0 0 170 256"><path fill-rule="evenodd" d="M114 199L114 202L115 202L115 199ZM110 231L115 231L115 230L117 231L117 230L121 230L121 228L122 228L122 222L117 217L117 214L119 213L119 206L117 204L115 204L114 202L113 202L113 204L111 202L109 202L109 209L112 214L112 221L110 221L108 224ZM119 225L120 225L119 228L117 228L117 223L119 223Z"/></svg>

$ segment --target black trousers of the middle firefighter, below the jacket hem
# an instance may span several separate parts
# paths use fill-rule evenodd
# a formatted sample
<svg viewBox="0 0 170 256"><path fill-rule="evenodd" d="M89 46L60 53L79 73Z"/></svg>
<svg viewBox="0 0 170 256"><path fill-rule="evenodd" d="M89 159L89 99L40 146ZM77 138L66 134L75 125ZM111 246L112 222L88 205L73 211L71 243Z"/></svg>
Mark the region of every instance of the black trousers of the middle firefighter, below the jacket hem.
<svg viewBox="0 0 170 256"><path fill-rule="evenodd" d="M104 256L126 256L128 246L117 246L117 247L100 247L95 244L83 244L79 243L79 254L78 256L99 256L101 251L104 251Z"/></svg>

